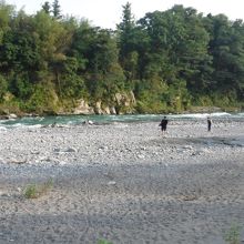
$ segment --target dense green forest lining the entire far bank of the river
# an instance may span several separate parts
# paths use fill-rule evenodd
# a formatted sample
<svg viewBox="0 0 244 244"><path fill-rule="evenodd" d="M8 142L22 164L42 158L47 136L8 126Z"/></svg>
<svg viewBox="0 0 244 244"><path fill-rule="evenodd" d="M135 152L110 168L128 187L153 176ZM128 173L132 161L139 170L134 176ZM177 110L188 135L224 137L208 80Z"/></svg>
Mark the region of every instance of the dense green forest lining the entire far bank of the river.
<svg viewBox="0 0 244 244"><path fill-rule="evenodd" d="M243 109L244 23L183 6L135 21L128 2L111 30L63 17L58 0L31 16L0 1L0 113L72 113L81 101L113 113Z"/></svg>

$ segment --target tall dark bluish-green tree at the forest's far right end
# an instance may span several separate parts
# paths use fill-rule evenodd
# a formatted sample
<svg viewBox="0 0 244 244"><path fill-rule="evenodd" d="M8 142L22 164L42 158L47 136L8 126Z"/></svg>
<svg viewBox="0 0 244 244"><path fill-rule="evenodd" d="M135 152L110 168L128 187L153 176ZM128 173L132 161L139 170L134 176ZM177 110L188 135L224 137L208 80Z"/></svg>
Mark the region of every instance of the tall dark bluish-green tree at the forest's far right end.
<svg viewBox="0 0 244 244"><path fill-rule="evenodd" d="M238 20L231 22L223 14L207 16L205 22L211 33L210 52L213 55L212 90L230 102L237 95L243 99L244 24Z"/></svg>

